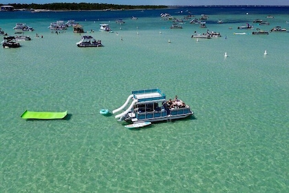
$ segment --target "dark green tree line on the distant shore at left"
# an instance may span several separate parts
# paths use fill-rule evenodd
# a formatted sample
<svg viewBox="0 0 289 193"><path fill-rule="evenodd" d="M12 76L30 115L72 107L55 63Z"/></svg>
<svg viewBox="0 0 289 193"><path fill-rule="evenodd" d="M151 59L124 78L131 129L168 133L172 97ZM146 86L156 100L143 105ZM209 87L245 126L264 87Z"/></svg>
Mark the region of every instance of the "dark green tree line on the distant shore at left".
<svg viewBox="0 0 289 193"><path fill-rule="evenodd" d="M160 9L167 6L129 6L115 5L107 3L46 3L46 4L21 4L9 3L15 9L34 9L34 10L131 10L131 9Z"/></svg>

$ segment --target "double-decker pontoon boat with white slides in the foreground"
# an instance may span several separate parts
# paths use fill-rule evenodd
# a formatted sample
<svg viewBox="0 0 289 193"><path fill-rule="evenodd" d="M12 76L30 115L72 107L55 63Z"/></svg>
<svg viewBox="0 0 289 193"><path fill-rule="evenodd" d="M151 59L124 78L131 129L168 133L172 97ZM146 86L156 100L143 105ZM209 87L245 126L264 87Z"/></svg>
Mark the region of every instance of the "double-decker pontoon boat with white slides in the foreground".
<svg viewBox="0 0 289 193"><path fill-rule="evenodd" d="M167 101L166 95L158 88L132 91L127 101L120 108L113 110L113 114L123 109L125 111L117 114L116 119L133 123L171 121L193 114L190 106L180 99Z"/></svg>

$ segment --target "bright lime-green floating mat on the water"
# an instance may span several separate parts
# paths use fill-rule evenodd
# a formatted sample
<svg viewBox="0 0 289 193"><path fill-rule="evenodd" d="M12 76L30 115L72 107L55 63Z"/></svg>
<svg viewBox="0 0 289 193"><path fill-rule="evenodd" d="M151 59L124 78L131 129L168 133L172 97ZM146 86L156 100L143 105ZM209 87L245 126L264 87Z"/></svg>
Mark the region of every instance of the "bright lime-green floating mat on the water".
<svg viewBox="0 0 289 193"><path fill-rule="evenodd" d="M65 112L33 112L25 110L21 115L22 119L63 119L67 115Z"/></svg>

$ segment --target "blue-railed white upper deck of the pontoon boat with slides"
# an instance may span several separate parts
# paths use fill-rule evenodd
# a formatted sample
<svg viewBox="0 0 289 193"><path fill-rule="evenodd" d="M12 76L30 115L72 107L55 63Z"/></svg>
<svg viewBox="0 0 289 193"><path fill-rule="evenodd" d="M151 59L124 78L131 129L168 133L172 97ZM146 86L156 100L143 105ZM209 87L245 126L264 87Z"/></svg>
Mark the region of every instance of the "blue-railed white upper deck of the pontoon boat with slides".
<svg viewBox="0 0 289 193"><path fill-rule="evenodd" d="M133 99L138 99L138 103L148 103L165 101L166 95L158 88L149 90L135 90L132 92Z"/></svg>

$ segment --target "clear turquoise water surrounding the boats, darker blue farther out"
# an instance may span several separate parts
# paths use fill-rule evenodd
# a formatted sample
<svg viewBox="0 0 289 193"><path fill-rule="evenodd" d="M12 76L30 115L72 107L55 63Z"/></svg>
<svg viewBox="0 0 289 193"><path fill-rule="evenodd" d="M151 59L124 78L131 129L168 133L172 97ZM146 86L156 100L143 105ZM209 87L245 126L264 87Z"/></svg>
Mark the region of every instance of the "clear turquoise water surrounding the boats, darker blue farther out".
<svg viewBox="0 0 289 193"><path fill-rule="evenodd" d="M17 22L35 29L21 48L0 49L3 192L288 192L289 33L255 36L237 26L259 18L270 22L263 30L289 28L289 14L212 12L206 29L185 21L171 30L161 12L122 17L122 26L107 12L1 13L8 34ZM63 14L105 47L78 48L72 28L52 34L47 26ZM207 29L222 37L191 39ZM128 130L99 114L147 88L178 94L195 116ZM25 121L25 110L69 117Z"/></svg>

